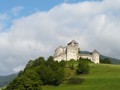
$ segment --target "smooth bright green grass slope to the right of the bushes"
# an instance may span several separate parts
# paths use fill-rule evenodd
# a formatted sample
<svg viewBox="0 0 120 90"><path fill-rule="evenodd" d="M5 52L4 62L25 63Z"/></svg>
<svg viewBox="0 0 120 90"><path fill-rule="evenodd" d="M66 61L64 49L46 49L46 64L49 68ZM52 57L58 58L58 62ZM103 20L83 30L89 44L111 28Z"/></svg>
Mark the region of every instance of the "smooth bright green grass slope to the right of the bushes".
<svg viewBox="0 0 120 90"><path fill-rule="evenodd" d="M90 64L85 81L78 85L43 86L42 90L120 90L120 65Z"/></svg>

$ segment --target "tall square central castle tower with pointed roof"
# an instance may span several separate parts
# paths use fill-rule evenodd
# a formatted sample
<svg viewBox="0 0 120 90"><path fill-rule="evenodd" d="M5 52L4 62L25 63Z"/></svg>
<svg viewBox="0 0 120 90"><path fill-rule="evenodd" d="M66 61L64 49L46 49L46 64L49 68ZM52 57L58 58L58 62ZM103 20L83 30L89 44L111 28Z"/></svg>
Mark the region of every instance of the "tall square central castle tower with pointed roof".
<svg viewBox="0 0 120 90"><path fill-rule="evenodd" d="M72 40L70 43L68 43L66 47L66 59L69 61L70 59L78 59L78 52L79 52L79 44L75 41Z"/></svg>

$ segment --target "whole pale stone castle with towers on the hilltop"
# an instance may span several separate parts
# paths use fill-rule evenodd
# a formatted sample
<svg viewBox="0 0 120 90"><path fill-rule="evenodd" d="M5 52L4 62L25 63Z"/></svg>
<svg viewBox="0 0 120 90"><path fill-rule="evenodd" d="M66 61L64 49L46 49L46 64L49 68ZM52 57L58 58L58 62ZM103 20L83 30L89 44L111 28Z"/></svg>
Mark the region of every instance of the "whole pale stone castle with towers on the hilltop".
<svg viewBox="0 0 120 90"><path fill-rule="evenodd" d="M75 40L68 43L66 47L59 46L54 53L55 61L69 61L71 59L78 60L79 58L88 58L95 64L98 64L100 62L99 57L100 54L96 49L90 54L80 53L79 44Z"/></svg>

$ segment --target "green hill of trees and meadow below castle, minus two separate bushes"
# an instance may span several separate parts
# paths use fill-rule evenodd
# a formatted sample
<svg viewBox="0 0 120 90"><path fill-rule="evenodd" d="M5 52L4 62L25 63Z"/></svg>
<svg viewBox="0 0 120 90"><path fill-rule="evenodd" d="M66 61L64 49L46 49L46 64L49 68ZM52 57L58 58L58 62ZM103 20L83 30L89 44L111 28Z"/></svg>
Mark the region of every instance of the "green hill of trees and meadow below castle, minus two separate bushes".
<svg viewBox="0 0 120 90"><path fill-rule="evenodd" d="M27 90L28 86L32 90L41 90L41 88L42 90L120 90L120 65L88 62L90 73L76 75L79 61L55 62L52 57L49 57L48 60L43 57L31 60L19 77L5 90ZM72 65L74 69L71 69ZM71 77L81 78L84 81L81 84L68 84ZM56 84L56 82L58 83Z"/></svg>

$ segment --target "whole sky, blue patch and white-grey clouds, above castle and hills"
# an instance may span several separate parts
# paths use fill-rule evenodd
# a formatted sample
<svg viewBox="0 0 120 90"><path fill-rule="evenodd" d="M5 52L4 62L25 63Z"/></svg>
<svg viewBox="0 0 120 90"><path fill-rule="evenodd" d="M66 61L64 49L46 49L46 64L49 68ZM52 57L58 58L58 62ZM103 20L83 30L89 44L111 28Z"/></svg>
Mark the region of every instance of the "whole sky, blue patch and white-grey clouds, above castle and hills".
<svg viewBox="0 0 120 90"><path fill-rule="evenodd" d="M1 0L0 75L72 40L82 51L120 59L119 34L120 0Z"/></svg>

